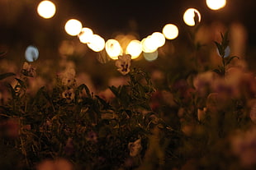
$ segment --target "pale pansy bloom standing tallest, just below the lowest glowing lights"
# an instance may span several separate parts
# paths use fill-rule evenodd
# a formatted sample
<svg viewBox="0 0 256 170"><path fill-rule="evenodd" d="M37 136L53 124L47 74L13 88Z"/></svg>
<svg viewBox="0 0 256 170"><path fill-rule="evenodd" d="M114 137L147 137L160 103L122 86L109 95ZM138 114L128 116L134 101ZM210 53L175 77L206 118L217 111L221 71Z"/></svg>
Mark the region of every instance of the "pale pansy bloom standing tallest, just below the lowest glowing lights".
<svg viewBox="0 0 256 170"><path fill-rule="evenodd" d="M118 56L118 60L116 61L117 71L120 71L122 75L128 74L130 72L130 60L130 54Z"/></svg>

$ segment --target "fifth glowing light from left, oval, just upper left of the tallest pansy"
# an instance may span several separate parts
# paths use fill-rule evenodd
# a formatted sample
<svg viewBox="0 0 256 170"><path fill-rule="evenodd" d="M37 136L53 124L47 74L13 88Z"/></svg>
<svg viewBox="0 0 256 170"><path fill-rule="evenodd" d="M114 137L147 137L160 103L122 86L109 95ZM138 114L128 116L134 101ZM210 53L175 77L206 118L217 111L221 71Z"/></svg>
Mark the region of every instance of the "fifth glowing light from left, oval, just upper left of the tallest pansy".
<svg viewBox="0 0 256 170"><path fill-rule="evenodd" d="M105 49L109 57L113 60L117 60L118 56L121 55L121 45L116 39L108 39L105 44Z"/></svg>

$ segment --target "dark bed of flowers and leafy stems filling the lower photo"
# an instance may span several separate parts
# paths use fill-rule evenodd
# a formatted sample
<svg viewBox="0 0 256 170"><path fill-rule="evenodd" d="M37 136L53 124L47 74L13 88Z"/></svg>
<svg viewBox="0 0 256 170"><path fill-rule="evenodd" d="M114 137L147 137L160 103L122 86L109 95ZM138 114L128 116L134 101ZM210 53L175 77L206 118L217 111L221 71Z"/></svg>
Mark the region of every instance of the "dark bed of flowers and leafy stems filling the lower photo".
<svg viewBox="0 0 256 170"><path fill-rule="evenodd" d="M215 44L222 66L201 71L192 58L192 71L166 69L160 82L119 57L117 70L128 81L108 87L112 99L77 85L73 68L35 94L30 64L20 76L0 75L2 82L15 76L0 106L0 168L58 169L68 161L78 170L254 169L256 81L231 66L228 33L221 38Z"/></svg>

